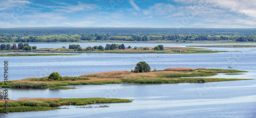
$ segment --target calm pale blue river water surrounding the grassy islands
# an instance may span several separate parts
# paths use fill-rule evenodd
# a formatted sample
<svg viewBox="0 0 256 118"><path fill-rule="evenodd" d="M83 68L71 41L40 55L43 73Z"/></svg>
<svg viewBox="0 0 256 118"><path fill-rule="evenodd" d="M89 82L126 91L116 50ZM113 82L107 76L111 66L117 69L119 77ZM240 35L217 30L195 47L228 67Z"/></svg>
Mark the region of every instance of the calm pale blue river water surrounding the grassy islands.
<svg viewBox="0 0 256 118"><path fill-rule="evenodd" d="M61 43L61 45L64 44ZM136 45L153 47L158 44L134 44L133 46ZM45 77L51 72L59 72L61 76L80 76L105 71L130 71L140 61L145 61L152 69L157 70L167 67L227 69L228 66L232 66L233 69L249 72L243 75L220 74L215 77L256 77L256 48L209 49L241 52L211 54L78 53L79 55L74 56L1 57L1 61L3 64L3 61L9 61L10 80ZM3 68L3 64L0 68ZM75 90L58 91L10 89L9 95L10 99L104 97L133 99L134 101L107 104L110 106L108 108L83 109L76 108L76 106L62 106L69 109L1 113L0 117L256 117L256 80L179 84L75 85L75 87L77 87Z"/></svg>

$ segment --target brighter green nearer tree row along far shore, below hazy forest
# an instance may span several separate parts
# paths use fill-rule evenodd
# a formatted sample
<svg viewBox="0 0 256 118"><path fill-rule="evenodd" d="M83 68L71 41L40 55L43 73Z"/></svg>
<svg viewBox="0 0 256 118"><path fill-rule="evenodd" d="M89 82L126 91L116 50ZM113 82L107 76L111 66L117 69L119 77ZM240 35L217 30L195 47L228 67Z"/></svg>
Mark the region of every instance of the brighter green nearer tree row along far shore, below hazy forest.
<svg viewBox="0 0 256 118"><path fill-rule="evenodd" d="M256 36L214 36L214 35L99 35L99 34L81 34L72 36L26 36L0 37L0 42L80 42L80 41L237 41L237 42L255 42Z"/></svg>

